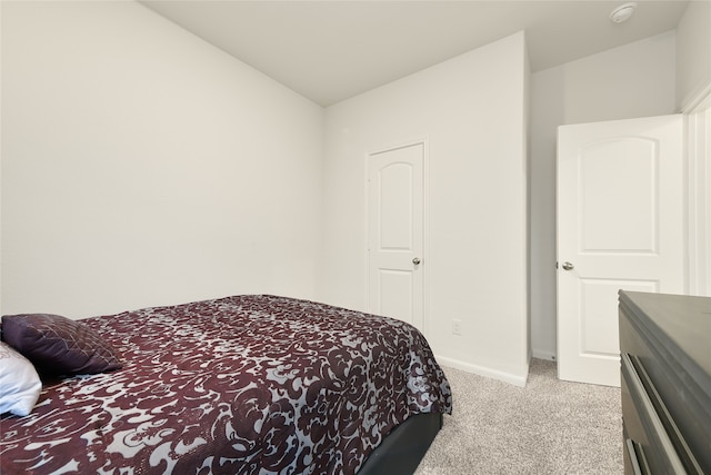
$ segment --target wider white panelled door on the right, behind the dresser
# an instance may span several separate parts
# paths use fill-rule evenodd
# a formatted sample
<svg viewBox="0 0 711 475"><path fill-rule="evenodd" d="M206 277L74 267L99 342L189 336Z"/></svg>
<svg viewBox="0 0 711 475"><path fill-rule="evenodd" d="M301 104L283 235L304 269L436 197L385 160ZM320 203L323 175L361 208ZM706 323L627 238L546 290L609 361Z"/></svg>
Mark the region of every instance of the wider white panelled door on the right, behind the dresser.
<svg viewBox="0 0 711 475"><path fill-rule="evenodd" d="M681 115L558 132L558 376L620 385L618 291L684 291Z"/></svg>

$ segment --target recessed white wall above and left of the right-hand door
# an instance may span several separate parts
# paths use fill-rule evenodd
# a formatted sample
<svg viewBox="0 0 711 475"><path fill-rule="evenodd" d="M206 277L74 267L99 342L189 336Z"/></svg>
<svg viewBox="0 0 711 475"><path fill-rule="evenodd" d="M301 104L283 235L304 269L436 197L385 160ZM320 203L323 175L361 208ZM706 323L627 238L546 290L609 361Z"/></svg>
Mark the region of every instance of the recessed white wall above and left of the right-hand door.
<svg viewBox="0 0 711 475"><path fill-rule="evenodd" d="M674 32L571 61L531 80L531 346L555 355L558 126L674 112Z"/></svg>

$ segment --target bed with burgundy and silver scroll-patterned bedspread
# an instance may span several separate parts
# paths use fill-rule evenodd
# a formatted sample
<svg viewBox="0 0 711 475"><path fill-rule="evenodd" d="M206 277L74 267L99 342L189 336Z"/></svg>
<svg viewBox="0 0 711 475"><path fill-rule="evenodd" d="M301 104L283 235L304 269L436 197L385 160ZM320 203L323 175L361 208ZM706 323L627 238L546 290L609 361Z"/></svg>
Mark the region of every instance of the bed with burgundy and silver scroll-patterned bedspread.
<svg viewBox="0 0 711 475"><path fill-rule="evenodd" d="M2 415L2 474L412 473L452 410L414 327L309 300L3 316L2 339L42 382Z"/></svg>

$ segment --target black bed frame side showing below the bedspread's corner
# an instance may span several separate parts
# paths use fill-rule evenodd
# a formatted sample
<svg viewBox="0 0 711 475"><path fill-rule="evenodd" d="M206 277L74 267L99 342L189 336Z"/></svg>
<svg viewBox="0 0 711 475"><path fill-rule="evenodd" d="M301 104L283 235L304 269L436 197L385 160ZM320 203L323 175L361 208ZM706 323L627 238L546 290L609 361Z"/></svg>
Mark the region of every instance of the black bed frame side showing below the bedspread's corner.
<svg viewBox="0 0 711 475"><path fill-rule="evenodd" d="M442 428L442 414L417 414L395 427L358 475L412 475Z"/></svg>

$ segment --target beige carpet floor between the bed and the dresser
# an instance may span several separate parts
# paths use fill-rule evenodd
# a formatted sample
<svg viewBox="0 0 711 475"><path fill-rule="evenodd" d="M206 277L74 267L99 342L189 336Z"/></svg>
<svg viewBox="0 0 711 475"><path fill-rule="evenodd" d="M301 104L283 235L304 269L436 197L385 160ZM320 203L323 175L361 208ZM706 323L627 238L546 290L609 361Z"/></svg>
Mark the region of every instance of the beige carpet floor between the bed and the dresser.
<svg viewBox="0 0 711 475"><path fill-rule="evenodd" d="M541 359L525 387L443 369L454 410L415 475L623 473L620 388L561 382Z"/></svg>

